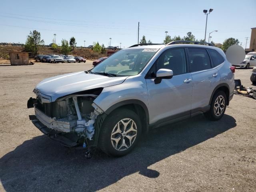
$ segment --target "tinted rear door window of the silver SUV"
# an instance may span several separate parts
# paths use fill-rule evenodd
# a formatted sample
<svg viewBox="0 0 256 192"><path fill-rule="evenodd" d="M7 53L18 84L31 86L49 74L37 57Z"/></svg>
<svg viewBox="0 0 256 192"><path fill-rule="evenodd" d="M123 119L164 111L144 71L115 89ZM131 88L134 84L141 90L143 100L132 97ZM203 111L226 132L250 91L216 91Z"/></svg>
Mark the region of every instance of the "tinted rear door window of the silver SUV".
<svg viewBox="0 0 256 192"><path fill-rule="evenodd" d="M210 57L206 49L188 48L190 72L202 71L211 68Z"/></svg>

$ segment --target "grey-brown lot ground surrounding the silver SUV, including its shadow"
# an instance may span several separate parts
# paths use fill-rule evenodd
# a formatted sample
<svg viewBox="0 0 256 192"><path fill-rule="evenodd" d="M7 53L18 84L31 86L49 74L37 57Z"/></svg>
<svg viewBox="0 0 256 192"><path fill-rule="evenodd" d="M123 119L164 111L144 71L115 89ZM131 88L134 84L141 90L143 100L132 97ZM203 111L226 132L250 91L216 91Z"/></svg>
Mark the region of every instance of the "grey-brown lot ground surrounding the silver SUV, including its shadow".
<svg viewBox="0 0 256 192"><path fill-rule="evenodd" d="M135 150L92 159L34 127L27 100L44 78L88 70L92 61L0 65L0 191L256 191L256 100L234 95L218 122L204 116L144 135ZM236 70L252 86L250 70ZM255 86L254 86L255 88ZM202 94L203 94L202 90Z"/></svg>

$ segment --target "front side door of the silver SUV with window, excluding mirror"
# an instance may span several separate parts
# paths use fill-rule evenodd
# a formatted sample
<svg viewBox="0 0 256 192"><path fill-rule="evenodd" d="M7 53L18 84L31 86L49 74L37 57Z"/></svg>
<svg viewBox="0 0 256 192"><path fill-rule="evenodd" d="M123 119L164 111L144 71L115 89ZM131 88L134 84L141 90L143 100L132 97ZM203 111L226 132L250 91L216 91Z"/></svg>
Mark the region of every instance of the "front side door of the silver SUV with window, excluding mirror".
<svg viewBox="0 0 256 192"><path fill-rule="evenodd" d="M159 69L173 71L171 79L155 84L154 75ZM190 115L192 76L188 72L185 48L168 49L156 60L147 76L150 124Z"/></svg>

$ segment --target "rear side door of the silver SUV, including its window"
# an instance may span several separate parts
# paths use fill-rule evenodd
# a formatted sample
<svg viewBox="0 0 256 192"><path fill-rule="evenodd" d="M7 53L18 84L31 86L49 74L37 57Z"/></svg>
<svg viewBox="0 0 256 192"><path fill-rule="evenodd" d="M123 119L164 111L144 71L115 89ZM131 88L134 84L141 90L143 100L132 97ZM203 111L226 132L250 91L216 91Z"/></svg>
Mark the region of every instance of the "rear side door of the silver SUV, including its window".
<svg viewBox="0 0 256 192"><path fill-rule="evenodd" d="M209 105L214 88L220 83L220 74L205 48L187 48L193 79L191 112L204 110Z"/></svg>

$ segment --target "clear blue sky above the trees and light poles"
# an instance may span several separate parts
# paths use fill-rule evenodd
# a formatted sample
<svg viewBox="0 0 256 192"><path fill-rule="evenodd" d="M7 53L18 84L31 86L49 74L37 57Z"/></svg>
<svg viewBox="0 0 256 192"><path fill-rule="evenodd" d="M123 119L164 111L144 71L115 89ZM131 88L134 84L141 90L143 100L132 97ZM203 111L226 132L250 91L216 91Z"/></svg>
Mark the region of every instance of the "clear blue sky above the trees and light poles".
<svg viewBox="0 0 256 192"><path fill-rule="evenodd" d="M245 47L256 27L256 0L1 0L0 42L22 42L30 30L41 33L45 44L56 34L56 43L62 38L76 38L77 46L92 42L108 46L128 47L137 43L138 22L140 36L153 43L162 43L165 31L173 36L185 36L191 31L197 39L204 38L208 15L206 40L209 32L215 43L226 38L238 38ZM250 41L250 38L248 38ZM249 42L247 43L247 48Z"/></svg>

